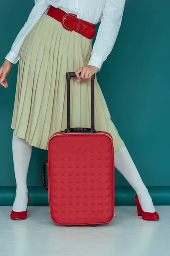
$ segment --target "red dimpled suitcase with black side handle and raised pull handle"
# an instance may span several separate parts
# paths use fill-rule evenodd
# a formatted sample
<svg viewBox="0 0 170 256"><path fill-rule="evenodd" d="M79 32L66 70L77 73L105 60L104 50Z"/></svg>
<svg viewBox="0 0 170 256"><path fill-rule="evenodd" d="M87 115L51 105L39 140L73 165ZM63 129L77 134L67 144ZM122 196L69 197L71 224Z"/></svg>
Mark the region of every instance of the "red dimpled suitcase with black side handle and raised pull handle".
<svg viewBox="0 0 170 256"><path fill-rule="evenodd" d="M111 134L94 129L94 79L91 79L92 128L70 127L70 79L66 73L68 128L55 133L42 165L51 219L62 225L105 224L114 217L114 150ZM45 182L48 166L48 186Z"/></svg>

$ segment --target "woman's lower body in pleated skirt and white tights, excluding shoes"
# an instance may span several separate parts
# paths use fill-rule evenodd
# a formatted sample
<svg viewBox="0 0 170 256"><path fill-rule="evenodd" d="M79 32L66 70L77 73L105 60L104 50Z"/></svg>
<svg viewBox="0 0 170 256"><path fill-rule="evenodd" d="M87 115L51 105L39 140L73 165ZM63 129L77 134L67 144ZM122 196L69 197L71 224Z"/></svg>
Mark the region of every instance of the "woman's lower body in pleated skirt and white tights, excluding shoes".
<svg viewBox="0 0 170 256"><path fill-rule="evenodd" d="M26 210L27 173L32 146L48 149L52 134L67 126L65 73L88 65L92 40L69 32L45 15L27 35L20 52L17 89L11 128L17 183L13 210ZM71 80L71 126L91 126L91 82ZM155 212L152 199L120 138L95 79L95 128L113 137L115 167L139 196L142 209Z"/></svg>

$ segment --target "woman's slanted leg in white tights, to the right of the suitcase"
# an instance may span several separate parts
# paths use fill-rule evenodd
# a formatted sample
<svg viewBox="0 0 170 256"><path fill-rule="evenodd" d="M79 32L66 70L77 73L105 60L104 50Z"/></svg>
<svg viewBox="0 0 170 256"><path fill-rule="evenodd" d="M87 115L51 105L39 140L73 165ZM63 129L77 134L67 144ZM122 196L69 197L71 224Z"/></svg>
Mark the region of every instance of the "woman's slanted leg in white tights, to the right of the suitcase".
<svg viewBox="0 0 170 256"><path fill-rule="evenodd" d="M136 191L143 211L155 212L156 210L153 206L152 198L125 146L115 152L115 167Z"/></svg>

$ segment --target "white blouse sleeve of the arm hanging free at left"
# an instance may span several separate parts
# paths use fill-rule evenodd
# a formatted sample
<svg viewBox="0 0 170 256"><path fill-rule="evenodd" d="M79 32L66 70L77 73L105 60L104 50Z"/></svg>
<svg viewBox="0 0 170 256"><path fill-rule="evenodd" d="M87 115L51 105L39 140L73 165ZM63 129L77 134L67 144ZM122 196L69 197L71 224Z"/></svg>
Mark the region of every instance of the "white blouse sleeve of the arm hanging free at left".
<svg viewBox="0 0 170 256"><path fill-rule="evenodd" d="M17 38L11 47L11 51L5 57L8 61L14 64L17 63L20 58L20 49L24 39L26 38L26 35L28 35L34 25L42 17L42 15L45 15L48 10L48 6L49 5L46 3L46 0L35 0L35 6L32 9L27 22L17 35Z"/></svg>

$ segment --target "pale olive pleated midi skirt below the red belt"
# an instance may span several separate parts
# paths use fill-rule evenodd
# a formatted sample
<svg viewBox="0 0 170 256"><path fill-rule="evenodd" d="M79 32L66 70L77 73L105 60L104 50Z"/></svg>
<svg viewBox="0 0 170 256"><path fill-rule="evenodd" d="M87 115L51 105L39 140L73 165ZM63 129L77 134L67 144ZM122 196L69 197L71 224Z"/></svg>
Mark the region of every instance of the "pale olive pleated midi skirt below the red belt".
<svg viewBox="0 0 170 256"><path fill-rule="evenodd" d="M87 66L92 40L69 32L43 16L26 36L20 51L11 128L29 145L48 149L52 134L67 128L66 72ZM91 81L71 79L71 127L91 127ZM124 145L111 121L95 79L95 128L113 136L115 151Z"/></svg>

